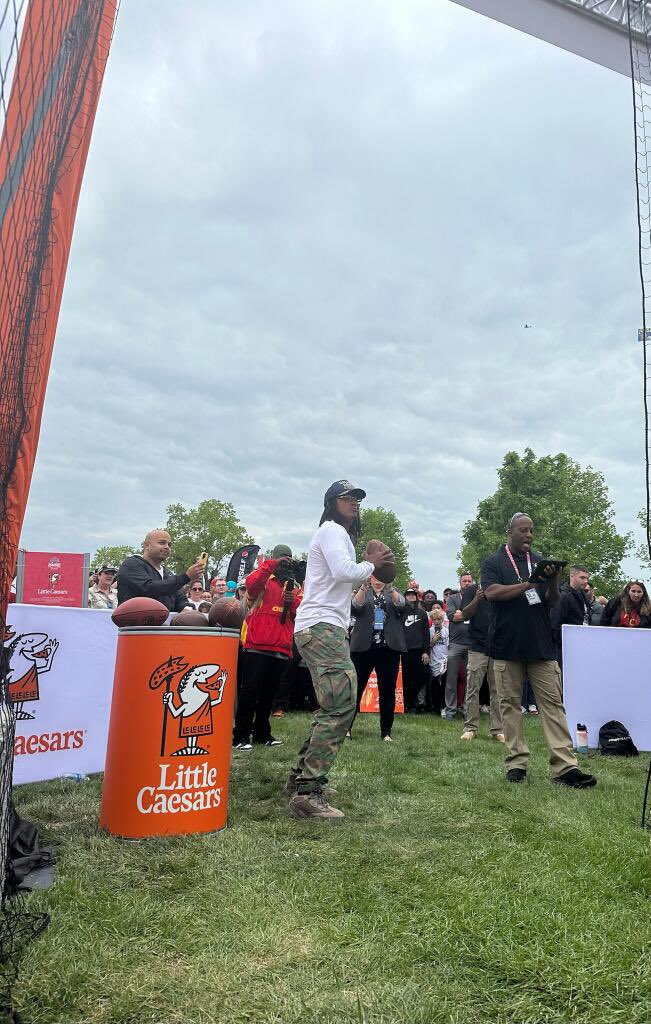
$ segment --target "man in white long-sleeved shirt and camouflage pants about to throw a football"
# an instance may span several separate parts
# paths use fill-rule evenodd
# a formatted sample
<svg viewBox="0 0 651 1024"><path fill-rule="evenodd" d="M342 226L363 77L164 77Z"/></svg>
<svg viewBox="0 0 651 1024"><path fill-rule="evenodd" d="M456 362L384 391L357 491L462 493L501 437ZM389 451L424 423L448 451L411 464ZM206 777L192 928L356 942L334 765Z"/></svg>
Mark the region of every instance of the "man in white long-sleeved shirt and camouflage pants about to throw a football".
<svg viewBox="0 0 651 1024"><path fill-rule="evenodd" d="M389 553L364 553L357 563L359 502L365 490L337 480L326 492L323 514L309 547L303 601L294 639L310 670L318 709L285 787L296 818L340 819L324 796L328 774L355 716L357 679L348 647L353 587L393 563Z"/></svg>

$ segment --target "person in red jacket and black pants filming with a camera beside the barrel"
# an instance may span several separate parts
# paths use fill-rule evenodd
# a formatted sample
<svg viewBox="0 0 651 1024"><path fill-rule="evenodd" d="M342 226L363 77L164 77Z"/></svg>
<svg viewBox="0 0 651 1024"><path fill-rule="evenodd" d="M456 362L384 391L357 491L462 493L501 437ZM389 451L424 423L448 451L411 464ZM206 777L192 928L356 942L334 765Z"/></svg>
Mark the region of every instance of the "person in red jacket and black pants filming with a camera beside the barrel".
<svg viewBox="0 0 651 1024"><path fill-rule="evenodd" d="M279 746L271 735L273 696L292 657L294 620L303 591L288 571L292 551L276 544L271 558L247 578L247 639L242 688L232 742L250 751L254 743Z"/></svg>

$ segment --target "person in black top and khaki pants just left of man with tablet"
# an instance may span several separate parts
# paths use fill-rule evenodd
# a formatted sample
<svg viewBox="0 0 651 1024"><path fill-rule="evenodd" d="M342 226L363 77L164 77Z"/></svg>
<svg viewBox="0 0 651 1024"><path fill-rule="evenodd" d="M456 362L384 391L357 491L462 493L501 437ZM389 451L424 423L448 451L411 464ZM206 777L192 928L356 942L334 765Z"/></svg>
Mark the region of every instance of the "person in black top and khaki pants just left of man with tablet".
<svg viewBox="0 0 651 1024"><path fill-rule="evenodd" d="M487 676L490 691L490 735L493 739L504 743L500 697L495 689L492 658L488 657L490 612L484 592L478 584L473 583L464 591L461 610L464 621L469 623L468 639L470 641L466 678L466 714L461 738L474 739L479 731L479 691L484 676Z"/></svg>

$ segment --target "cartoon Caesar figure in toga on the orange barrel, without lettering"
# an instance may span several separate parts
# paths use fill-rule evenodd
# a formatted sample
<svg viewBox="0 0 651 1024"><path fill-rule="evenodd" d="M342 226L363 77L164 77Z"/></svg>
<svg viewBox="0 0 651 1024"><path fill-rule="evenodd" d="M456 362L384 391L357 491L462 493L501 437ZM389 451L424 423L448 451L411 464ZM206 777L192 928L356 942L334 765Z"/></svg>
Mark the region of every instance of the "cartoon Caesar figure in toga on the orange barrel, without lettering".
<svg viewBox="0 0 651 1024"><path fill-rule="evenodd" d="M188 669L178 684L178 708L171 690L163 694L167 711L174 718L180 718L179 736L186 740L184 746L172 753L172 757L208 754L205 748L198 745L197 740L199 736L212 736L213 733L213 708L222 701L228 676L226 672L218 673L218 665L196 665ZM213 693L216 695L212 696Z"/></svg>

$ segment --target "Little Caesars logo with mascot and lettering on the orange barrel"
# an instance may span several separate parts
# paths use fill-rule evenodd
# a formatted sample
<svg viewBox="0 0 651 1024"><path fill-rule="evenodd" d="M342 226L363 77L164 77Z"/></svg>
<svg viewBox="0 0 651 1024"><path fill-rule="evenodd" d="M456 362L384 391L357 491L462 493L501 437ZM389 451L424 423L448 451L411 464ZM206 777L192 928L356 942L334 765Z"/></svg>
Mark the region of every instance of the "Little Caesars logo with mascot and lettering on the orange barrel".
<svg viewBox="0 0 651 1024"><path fill-rule="evenodd" d="M162 758L196 758L209 753L206 746L200 744L200 738L205 743L213 734L213 708L221 703L227 679L228 674L221 672L218 665L189 666L182 657L171 655L154 670L149 677L149 689L158 690L165 686ZM179 723L178 741L181 745L166 755L170 717ZM193 765L161 764L156 785L142 786L136 797L141 814L207 811L219 807L220 803L221 786L217 785L217 769L210 768L207 761Z"/></svg>

